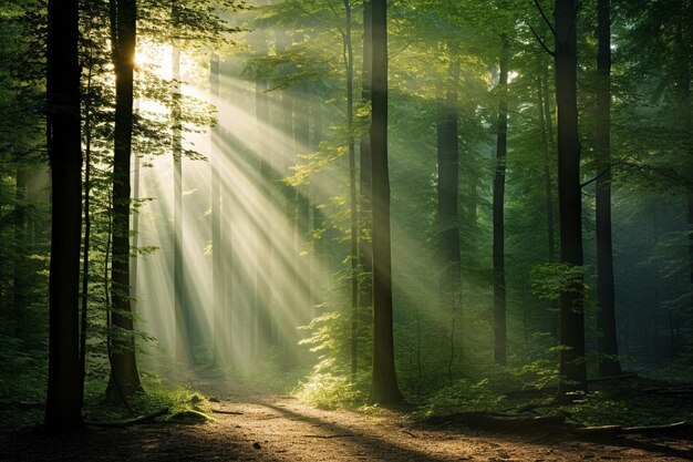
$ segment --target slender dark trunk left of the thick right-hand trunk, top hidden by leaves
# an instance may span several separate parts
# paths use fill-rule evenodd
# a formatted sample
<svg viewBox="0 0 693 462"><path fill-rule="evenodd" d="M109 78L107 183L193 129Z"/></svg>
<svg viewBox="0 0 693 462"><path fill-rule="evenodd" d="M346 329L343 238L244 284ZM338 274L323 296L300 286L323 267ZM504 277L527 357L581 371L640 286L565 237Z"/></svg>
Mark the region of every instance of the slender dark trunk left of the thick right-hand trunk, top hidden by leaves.
<svg viewBox="0 0 693 462"><path fill-rule="evenodd" d="M494 177L494 359L498 365L507 361L506 347L506 287L505 287L505 171L508 148L508 61L510 43L500 39L498 126L496 140L496 174Z"/></svg>

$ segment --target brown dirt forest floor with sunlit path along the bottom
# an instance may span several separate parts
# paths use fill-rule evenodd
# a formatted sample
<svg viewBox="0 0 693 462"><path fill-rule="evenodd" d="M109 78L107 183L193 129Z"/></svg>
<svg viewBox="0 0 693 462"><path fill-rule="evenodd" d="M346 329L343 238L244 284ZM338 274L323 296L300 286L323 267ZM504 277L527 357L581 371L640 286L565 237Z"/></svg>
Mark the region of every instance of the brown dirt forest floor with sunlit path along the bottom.
<svg viewBox="0 0 693 462"><path fill-rule="evenodd" d="M43 435L0 432L0 461L691 461L693 434L587 440L542 429L482 432L406 415L325 411L259 383L194 383L215 397L206 424L147 423Z"/></svg>

